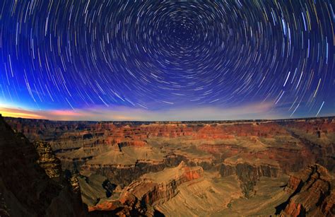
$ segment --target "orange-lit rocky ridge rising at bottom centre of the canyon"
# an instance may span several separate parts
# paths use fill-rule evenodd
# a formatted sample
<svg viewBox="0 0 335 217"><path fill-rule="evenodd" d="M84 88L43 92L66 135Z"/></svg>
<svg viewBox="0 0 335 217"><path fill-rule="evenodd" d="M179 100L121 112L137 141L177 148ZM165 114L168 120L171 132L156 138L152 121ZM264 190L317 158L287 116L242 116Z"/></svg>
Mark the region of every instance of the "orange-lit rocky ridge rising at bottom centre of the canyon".
<svg viewBox="0 0 335 217"><path fill-rule="evenodd" d="M191 182L204 177L201 167L188 167L184 162L175 168L165 169L160 172L148 173L132 182L121 193L117 200L102 201L95 206L90 206L93 211L116 211L129 210L129 206L138 211L137 214L151 215L153 210L149 207L162 204L178 193L177 187L185 182ZM131 210L131 209L130 209Z"/></svg>

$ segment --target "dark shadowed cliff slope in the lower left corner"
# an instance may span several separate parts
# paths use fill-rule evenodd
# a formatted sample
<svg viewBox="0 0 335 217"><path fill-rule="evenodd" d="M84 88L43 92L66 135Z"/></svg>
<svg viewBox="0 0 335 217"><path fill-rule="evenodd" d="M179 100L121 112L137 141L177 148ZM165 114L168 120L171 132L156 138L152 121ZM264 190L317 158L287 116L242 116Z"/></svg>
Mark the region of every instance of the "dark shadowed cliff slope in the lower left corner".
<svg viewBox="0 0 335 217"><path fill-rule="evenodd" d="M1 216L86 216L80 194L60 177L59 160L46 144L35 146L0 116Z"/></svg>

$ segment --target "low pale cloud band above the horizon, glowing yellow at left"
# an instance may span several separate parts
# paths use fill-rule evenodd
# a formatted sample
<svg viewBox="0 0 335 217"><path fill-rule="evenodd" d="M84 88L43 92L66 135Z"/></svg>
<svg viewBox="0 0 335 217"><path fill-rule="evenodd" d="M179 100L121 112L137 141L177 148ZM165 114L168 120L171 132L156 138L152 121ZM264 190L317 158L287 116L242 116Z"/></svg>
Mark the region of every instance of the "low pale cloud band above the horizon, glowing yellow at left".
<svg viewBox="0 0 335 217"><path fill-rule="evenodd" d="M180 107L170 110L144 110L131 107L90 107L80 110L25 110L0 107L0 113L8 117L23 117L52 120L88 121L180 121L180 120L225 120L225 119L277 119L283 118L271 111L273 103L254 103L238 107Z"/></svg>

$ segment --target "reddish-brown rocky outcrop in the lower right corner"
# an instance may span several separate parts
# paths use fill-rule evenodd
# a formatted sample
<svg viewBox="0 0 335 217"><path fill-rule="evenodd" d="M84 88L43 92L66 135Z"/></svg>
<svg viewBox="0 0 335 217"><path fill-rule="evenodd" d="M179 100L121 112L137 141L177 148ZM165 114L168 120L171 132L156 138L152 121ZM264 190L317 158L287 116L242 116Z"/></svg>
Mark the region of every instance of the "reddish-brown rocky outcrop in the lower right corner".
<svg viewBox="0 0 335 217"><path fill-rule="evenodd" d="M288 201L278 206L282 216L334 216L334 178L321 165L310 165L290 177Z"/></svg>

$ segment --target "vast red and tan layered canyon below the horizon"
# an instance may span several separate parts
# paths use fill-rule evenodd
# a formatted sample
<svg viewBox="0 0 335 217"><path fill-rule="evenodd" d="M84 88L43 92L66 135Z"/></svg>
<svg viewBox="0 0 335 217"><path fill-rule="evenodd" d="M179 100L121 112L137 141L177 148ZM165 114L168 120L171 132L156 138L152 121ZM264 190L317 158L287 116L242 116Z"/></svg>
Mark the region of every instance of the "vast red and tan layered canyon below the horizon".
<svg viewBox="0 0 335 217"><path fill-rule="evenodd" d="M6 163L6 150L17 146L18 134L26 137L47 176L69 182L71 195L81 194L83 205L72 202L85 209L78 216L335 215L335 117L1 122L7 126L0 135L5 167L22 163ZM0 216L1 210L16 216L8 209L16 201L2 197L1 205L1 195L13 193L4 176Z"/></svg>

